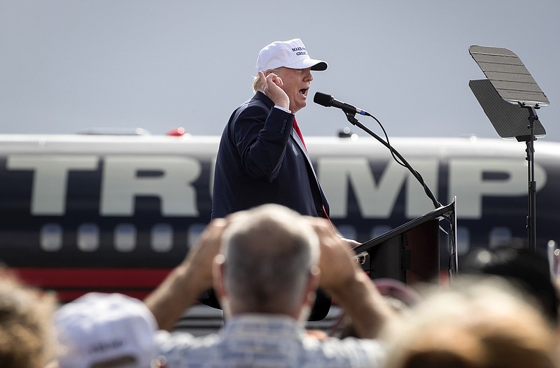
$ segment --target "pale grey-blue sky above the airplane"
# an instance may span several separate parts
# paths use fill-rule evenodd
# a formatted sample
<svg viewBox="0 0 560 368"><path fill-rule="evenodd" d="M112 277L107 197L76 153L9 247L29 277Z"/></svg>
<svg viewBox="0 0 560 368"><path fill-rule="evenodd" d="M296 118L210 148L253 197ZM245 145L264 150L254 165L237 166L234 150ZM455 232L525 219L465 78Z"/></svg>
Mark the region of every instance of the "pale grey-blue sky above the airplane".
<svg viewBox="0 0 560 368"><path fill-rule="evenodd" d="M218 135L252 95L260 48L298 37L329 63L297 114L305 135L349 125L312 102L320 91L389 136L497 137L468 87L484 78L469 46L489 45L524 62L551 102L545 139L560 141L559 17L556 0L0 0L0 134Z"/></svg>

